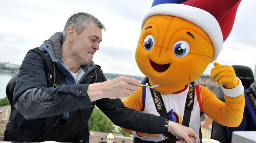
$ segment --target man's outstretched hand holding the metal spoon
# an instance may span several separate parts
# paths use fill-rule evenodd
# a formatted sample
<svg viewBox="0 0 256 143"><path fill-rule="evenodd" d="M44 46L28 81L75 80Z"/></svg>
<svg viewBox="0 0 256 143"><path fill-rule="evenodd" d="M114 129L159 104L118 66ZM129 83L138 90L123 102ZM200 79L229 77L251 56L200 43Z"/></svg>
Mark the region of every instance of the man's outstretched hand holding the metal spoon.
<svg viewBox="0 0 256 143"><path fill-rule="evenodd" d="M117 77L101 83L90 84L87 93L91 102L101 98L122 98L134 94L140 87L140 81L128 77Z"/></svg>

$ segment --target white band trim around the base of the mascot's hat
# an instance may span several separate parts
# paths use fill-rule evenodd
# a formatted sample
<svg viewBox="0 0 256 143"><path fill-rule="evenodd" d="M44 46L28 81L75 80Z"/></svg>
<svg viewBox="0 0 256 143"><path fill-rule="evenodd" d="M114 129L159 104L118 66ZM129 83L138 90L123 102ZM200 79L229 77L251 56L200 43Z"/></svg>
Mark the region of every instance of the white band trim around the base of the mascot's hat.
<svg viewBox="0 0 256 143"><path fill-rule="evenodd" d="M143 28L146 20L153 15L172 15L186 19L204 29L209 35L214 46L214 56L211 63L219 56L223 47L223 35L218 21L207 11L185 4L158 4L147 12L141 25Z"/></svg>

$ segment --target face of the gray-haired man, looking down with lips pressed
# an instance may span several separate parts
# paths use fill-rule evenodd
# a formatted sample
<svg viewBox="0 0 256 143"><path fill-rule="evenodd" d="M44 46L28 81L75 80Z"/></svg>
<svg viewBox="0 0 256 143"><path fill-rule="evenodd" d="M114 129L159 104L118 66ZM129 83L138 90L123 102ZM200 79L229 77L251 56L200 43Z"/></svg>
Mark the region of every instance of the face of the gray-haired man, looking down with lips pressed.
<svg viewBox="0 0 256 143"><path fill-rule="evenodd" d="M91 64L94 53L99 49L100 41L102 41L101 28L94 23L90 24L88 29L76 35L72 44L73 58L80 65Z"/></svg>

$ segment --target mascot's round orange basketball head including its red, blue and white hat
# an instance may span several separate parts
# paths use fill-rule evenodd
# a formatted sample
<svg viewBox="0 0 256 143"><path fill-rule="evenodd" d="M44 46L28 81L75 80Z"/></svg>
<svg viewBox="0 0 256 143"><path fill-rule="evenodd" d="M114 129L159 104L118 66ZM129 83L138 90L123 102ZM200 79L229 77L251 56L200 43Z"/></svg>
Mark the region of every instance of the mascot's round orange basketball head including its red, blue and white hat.
<svg viewBox="0 0 256 143"><path fill-rule="evenodd" d="M156 90L170 94L199 78L231 32L240 1L155 0L135 53Z"/></svg>

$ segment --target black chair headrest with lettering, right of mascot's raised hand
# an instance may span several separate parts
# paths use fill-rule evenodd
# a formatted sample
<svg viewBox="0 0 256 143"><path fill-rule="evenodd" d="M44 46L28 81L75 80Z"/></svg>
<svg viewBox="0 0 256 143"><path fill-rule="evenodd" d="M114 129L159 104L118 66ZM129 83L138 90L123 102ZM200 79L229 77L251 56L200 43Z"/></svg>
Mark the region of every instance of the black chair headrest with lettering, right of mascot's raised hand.
<svg viewBox="0 0 256 143"><path fill-rule="evenodd" d="M236 72L236 77L239 78L244 86L244 88L250 87L254 82L254 75L252 69L244 65L232 65Z"/></svg>

